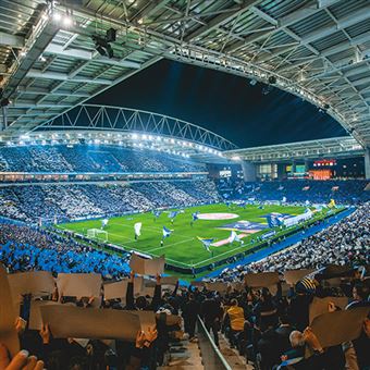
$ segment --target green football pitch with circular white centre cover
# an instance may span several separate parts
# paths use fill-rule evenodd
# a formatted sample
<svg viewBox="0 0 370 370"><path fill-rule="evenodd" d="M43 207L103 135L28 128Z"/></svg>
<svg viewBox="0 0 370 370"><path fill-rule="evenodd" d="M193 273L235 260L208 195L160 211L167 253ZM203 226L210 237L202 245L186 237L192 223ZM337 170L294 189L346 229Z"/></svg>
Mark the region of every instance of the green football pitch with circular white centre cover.
<svg viewBox="0 0 370 370"><path fill-rule="evenodd" d="M223 260L236 254L246 251L258 243L258 236L271 231L266 215L279 212L285 215L296 215L305 212L305 207L297 206L263 206L255 205L238 207L224 203L196 206L180 210L173 223L169 218L169 210L155 218L151 212L135 213L111 218L104 231L108 243L121 246L127 251L140 251L152 257L165 255L166 262L181 268L200 268L212 262ZM192 225L194 212L199 212L199 219ZM322 219L328 209L313 213L311 220ZM141 235L135 240L134 224L141 222ZM163 239L163 226L171 230L169 237ZM87 235L89 229L100 229L101 220L86 220L59 224L58 227ZM236 231L240 242L230 243L231 231ZM289 230L276 229L274 236L283 235ZM99 238L104 238L99 234ZM210 251L206 250L200 238L214 239Z"/></svg>

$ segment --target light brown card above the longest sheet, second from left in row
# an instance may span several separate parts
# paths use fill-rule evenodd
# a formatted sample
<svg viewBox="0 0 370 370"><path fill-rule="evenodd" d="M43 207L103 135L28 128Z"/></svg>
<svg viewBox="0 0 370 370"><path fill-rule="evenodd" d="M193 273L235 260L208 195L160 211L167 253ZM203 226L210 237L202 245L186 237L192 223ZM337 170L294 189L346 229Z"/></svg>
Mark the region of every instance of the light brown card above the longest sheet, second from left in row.
<svg viewBox="0 0 370 370"><path fill-rule="evenodd" d="M101 275L96 273L59 273L59 296L100 297Z"/></svg>

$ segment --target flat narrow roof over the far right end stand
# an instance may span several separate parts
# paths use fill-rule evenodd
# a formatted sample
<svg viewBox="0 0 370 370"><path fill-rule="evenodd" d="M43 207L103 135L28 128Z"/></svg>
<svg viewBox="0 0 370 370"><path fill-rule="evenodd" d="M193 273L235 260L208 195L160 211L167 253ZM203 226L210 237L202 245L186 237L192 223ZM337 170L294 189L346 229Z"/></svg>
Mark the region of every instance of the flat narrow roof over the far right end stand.
<svg viewBox="0 0 370 370"><path fill-rule="evenodd" d="M281 145L270 145L224 152L230 159L251 162L281 162L318 158L363 156L365 149L353 137L334 137Z"/></svg>

